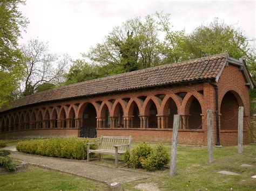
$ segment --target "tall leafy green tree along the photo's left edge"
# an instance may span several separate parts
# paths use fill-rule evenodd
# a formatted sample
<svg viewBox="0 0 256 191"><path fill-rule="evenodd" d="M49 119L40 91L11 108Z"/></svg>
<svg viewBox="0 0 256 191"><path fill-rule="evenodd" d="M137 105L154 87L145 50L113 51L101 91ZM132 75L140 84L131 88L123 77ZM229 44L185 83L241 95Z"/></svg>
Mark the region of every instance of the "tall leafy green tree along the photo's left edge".
<svg viewBox="0 0 256 191"><path fill-rule="evenodd" d="M17 97L18 82L23 76L22 53L17 40L28 24L18 5L23 0L0 1L0 105Z"/></svg>

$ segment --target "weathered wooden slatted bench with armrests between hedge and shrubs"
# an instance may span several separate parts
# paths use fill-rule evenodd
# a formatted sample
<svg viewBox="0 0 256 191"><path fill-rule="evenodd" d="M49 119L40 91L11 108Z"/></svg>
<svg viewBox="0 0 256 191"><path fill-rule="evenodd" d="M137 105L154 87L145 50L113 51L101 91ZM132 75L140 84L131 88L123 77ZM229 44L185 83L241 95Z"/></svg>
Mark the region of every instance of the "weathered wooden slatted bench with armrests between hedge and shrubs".
<svg viewBox="0 0 256 191"><path fill-rule="evenodd" d="M90 161L90 153L99 153L99 160L101 154L112 154L118 166L118 154L124 154L126 151L130 151L132 136L129 137L109 137L101 136L98 143L87 143L87 161ZM91 150L90 145L99 144L97 150Z"/></svg>

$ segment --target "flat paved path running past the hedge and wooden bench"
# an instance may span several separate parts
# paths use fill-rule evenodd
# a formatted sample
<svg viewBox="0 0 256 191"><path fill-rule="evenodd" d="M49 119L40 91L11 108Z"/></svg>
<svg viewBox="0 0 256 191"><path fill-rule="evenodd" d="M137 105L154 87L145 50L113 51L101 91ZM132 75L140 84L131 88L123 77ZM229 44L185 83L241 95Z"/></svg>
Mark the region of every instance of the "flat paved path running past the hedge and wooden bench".
<svg viewBox="0 0 256 191"><path fill-rule="evenodd" d="M14 152L10 156L35 166L82 176L84 178L96 180L106 184L110 184L112 182L125 183L150 178L150 175L145 173L137 173L125 171L119 168L99 166L91 164L90 162L78 160L43 157L40 155L24 154L20 152Z"/></svg>

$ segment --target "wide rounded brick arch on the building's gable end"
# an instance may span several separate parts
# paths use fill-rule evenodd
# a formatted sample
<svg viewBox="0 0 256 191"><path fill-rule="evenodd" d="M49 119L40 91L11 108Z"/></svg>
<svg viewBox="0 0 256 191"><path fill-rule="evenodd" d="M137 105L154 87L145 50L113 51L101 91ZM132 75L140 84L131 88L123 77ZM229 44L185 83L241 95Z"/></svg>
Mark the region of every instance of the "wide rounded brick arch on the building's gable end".
<svg viewBox="0 0 256 191"><path fill-rule="evenodd" d="M249 112L248 111L248 105L246 104L246 101L244 100L244 96L242 96L241 91L237 87L235 87L233 85L226 86L221 91L220 96L219 96L219 108L221 107L221 102L223 101L223 97L226 95L226 93L228 91L231 91L231 93L235 96L235 98L237 98L239 106L244 106L246 112Z"/></svg>

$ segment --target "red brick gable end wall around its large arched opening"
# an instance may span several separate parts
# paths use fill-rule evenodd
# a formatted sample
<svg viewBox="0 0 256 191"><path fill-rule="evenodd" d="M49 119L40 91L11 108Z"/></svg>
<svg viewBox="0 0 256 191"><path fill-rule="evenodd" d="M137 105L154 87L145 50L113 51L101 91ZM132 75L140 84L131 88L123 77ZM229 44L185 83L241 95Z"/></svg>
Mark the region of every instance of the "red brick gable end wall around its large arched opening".
<svg viewBox="0 0 256 191"><path fill-rule="evenodd" d="M248 139L248 126L246 123L246 120L248 116L250 116L250 100L249 100L249 88L245 85L245 77L242 74L241 70L239 70L239 67L228 65L224 68L223 73L220 76L218 87L219 87L219 109L220 112L224 111L226 115L226 110L229 110L233 112L233 114L229 114L228 117L225 117L225 114L221 114L220 117L220 130L221 125L226 125L225 123L221 122L221 119L227 119L234 116L235 112L237 112L239 106L243 106L245 111L244 115L244 143L247 144L250 142L250 139ZM225 97L226 93L230 91L233 95L228 95L228 97ZM234 97L236 98L236 101L234 100ZM224 101L226 103L225 109L221 110L221 102ZM231 104L231 101L233 104ZM231 108L231 109L227 109ZM227 129L237 129L237 123L238 123L238 116L235 116L233 118L233 121L230 121L230 125L227 125ZM221 145L236 145L237 144L237 131L220 131L220 144Z"/></svg>

